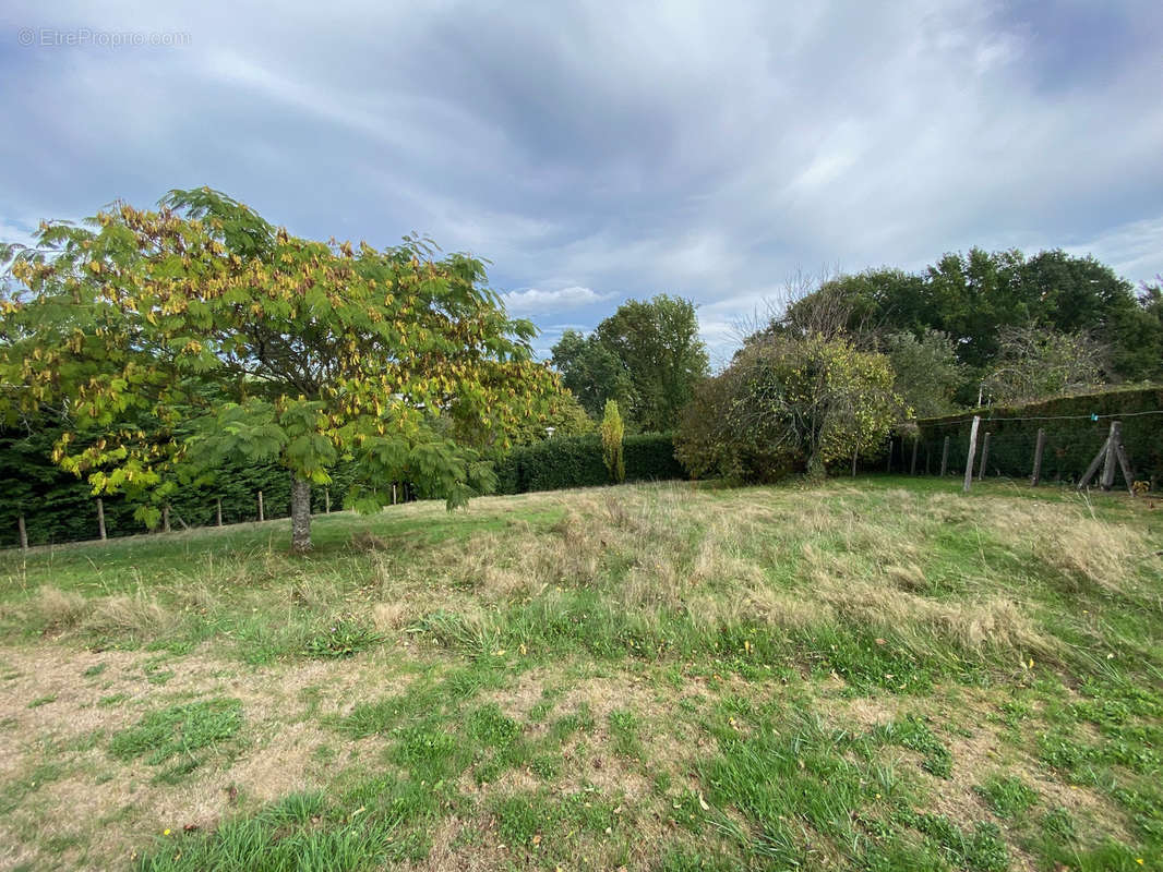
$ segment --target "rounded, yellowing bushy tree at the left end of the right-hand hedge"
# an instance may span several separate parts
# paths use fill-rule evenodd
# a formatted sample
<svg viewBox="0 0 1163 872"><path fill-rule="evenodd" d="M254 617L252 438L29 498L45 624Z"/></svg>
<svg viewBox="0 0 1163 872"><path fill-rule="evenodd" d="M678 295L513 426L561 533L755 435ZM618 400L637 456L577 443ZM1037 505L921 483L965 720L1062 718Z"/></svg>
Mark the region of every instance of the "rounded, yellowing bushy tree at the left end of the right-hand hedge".
<svg viewBox="0 0 1163 872"><path fill-rule="evenodd" d="M884 355L822 336L745 346L699 389L676 441L692 474L770 481L878 451L908 410ZM707 423L712 421L713 423Z"/></svg>

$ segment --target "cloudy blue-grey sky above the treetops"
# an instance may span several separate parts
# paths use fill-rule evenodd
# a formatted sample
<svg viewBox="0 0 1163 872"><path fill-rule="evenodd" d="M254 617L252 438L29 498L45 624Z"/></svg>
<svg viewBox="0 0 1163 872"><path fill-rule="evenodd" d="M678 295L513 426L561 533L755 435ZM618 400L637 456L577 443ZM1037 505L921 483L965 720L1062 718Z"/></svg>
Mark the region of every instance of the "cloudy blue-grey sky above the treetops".
<svg viewBox="0 0 1163 872"><path fill-rule="evenodd" d="M792 277L1064 248L1163 272L1156 2L0 8L0 238L209 185L314 238L491 262L541 328Z"/></svg>

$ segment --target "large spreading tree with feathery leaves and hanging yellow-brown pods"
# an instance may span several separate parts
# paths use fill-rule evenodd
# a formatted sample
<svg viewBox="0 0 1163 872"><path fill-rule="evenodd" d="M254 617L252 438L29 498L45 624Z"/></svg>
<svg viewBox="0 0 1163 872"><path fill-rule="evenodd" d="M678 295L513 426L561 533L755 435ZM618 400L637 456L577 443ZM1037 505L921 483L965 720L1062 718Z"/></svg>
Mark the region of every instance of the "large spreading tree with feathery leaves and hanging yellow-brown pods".
<svg viewBox="0 0 1163 872"><path fill-rule="evenodd" d="M299 238L209 188L48 223L10 277L9 416L66 406L56 459L94 493L162 486L181 463L277 459L295 551L311 548L311 485L341 458L351 507L377 510L394 480L459 506L492 472L457 422L504 429L554 388L533 326L508 319L479 260L412 238Z"/></svg>

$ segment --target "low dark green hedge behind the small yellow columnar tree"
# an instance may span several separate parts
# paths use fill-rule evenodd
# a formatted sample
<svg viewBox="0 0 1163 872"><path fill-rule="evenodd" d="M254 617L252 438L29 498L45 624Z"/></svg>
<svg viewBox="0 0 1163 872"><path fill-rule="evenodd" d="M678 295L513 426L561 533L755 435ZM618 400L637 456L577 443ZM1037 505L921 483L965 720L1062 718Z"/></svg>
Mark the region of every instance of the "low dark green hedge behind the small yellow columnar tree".
<svg viewBox="0 0 1163 872"><path fill-rule="evenodd" d="M627 481L686 478L670 434L627 436L622 448ZM559 436L513 449L497 462L497 492L502 494L608 485L601 436Z"/></svg>

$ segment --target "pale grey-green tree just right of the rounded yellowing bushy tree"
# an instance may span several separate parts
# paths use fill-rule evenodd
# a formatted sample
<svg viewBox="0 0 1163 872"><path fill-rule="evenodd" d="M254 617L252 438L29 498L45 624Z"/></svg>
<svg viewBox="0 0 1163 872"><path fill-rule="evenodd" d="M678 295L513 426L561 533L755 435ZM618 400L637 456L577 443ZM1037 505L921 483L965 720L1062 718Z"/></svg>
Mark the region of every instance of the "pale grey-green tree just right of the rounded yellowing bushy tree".
<svg viewBox="0 0 1163 872"><path fill-rule="evenodd" d="M916 417L944 415L956 408L952 398L964 380L957 350L943 333L926 329L918 338L911 333L891 333L882 342L893 371L893 391Z"/></svg>

